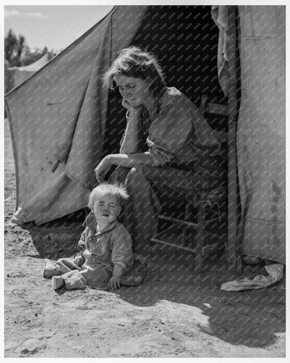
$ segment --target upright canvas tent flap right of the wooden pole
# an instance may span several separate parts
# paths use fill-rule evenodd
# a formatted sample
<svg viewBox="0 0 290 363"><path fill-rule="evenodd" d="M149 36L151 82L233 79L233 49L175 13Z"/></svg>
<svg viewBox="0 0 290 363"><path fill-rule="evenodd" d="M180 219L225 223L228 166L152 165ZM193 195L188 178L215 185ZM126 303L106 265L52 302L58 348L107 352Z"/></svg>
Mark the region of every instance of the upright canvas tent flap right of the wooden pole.
<svg viewBox="0 0 290 363"><path fill-rule="evenodd" d="M285 263L285 7L240 6L243 253Z"/></svg>

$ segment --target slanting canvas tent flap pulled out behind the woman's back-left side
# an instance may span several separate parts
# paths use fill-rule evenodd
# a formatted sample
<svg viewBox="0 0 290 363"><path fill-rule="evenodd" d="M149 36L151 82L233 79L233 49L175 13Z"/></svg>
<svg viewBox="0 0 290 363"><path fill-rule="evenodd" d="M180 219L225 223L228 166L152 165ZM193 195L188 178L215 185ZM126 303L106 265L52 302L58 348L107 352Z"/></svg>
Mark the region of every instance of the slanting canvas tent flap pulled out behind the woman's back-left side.
<svg viewBox="0 0 290 363"><path fill-rule="evenodd" d="M6 94L17 182L15 222L45 223L86 206L106 128L108 90L100 75L112 54L130 45L146 8L115 7ZM124 22L128 14L130 27Z"/></svg>

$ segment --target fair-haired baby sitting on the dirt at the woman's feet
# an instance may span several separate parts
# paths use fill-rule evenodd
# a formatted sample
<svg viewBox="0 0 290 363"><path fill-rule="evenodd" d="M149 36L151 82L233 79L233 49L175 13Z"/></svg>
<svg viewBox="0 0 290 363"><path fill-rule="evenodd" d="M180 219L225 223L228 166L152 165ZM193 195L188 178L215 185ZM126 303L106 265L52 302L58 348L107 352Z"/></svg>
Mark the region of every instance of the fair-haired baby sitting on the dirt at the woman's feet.
<svg viewBox="0 0 290 363"><path fill-rule="evenodd" d="M97 288L111 290L137 286L146 274L146 262L134 261L132 239L128 230L116 220L122 202L128 194L121 186L100 184L91 191L91 213L75 258L61 258L56 262L45 259L44 277L52 277L54 290Z"/></svg>

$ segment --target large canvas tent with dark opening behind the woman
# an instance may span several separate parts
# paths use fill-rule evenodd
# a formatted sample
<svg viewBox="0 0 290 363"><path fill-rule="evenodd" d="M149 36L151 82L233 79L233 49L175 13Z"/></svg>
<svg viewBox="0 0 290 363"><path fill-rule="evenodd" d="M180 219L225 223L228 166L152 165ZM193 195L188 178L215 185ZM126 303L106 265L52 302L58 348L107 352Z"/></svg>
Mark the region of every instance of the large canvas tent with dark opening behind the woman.
<svg viewBox="0 0 290 363"><path fill-rule="evenodd" d="M234 66L236 35L241 80ZM204 93L229 102L229 147L237 150L229 163L231 262L241 252L284 263L284 6L113 8L6 94L17 175L15 221L40 224L86 206L96 185L93 169L102 156L118 151L125 127L121 100L102 88L100 75L114 53L132 44L152 50L167 84L197 105ZM236 103L239 91L241 103ZM222 120L212 126L227 131Z"/></svg>

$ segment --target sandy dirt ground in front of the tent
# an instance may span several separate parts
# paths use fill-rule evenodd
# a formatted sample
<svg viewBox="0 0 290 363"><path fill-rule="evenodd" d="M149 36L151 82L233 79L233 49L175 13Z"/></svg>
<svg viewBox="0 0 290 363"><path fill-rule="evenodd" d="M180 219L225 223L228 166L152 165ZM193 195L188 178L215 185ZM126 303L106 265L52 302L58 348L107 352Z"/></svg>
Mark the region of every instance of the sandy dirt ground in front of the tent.
<svg viewBox="0 0 290 363"><path fill-rule="evenodd" d="M285 357L285 278L270 288L220 290L236 279L226 259L155 245L141 286L52 290L43 260L75 251L79 221L14 225L15 169L5 119L5 357ZM243 276L267 275L264 264Z"/></svg>

